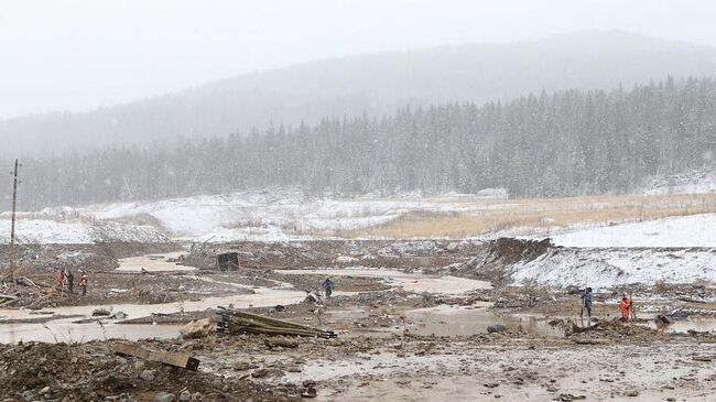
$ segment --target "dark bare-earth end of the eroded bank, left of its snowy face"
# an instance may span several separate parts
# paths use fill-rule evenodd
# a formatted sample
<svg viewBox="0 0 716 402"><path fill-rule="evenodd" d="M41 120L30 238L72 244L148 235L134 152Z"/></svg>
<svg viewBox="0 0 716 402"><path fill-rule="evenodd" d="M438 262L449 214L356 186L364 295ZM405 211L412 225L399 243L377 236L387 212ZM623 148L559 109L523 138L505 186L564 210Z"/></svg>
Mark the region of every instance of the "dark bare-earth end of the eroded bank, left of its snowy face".
<svg viewBox="0 0 716 402"><path fill-rule="evenodd" d="M551 239L527 240L499 238L486 242L470 261L454 267L451 273L487 280L493 284L510 282L512 265L532 261L553 248Z"/></svg>

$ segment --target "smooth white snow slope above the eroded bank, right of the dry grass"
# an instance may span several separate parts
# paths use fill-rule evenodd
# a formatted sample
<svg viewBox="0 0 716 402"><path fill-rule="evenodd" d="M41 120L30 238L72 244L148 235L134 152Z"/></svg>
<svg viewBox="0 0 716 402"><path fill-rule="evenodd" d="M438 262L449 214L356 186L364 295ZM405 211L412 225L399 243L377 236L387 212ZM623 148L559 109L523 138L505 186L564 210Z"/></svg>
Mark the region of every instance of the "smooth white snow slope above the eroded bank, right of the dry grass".
<svg viewBox="0 0 716 402"><path fill-rule="evenodd" d="M565 247L716 247L716 214L657 219L555 236Z"/></svg>

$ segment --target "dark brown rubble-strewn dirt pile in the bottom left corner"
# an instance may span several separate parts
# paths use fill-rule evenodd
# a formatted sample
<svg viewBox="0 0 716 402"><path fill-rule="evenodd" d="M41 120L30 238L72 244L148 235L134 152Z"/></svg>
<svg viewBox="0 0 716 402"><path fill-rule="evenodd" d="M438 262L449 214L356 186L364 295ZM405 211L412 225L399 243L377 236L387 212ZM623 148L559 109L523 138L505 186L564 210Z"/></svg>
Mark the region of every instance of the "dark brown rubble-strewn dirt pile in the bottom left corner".
<svg viewBox="0 0 716 402"><path fill-rule="evenodd" d="M110 343L0 346L0 398L55 401L294 401L292 385L263 385L122 357ZM170 396L169 394L172 394Z"/></svg>

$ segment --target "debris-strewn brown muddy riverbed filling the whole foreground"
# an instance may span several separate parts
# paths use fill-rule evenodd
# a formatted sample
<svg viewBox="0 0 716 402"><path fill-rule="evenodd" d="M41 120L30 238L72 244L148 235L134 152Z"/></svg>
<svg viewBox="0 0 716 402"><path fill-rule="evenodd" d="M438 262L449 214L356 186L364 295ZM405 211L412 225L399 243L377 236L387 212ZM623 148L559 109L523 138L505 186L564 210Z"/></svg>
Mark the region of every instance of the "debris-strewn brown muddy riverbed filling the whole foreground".
<svg viewBox="0 0 716 402"><path fill-rule="evenodd" d="M493 287L414 267L216 272L177 265L181 259L122 259L116 271L93 273L86 298L0 309L0 381L11 384L0 398L154 401L188 392L205 401L299 401L315 390L321 401L712 401L716 392L716 308L703 289L706 301L697 303L680 300L688 286L637 289L639 319L627 323L615 320L620 290L600 290L589 326L579 319L578 296L564 290ZM327 276L334 297L305 303ZM218 306L338 338L275 348L256 335L178 337L192 318L215 320ZM110 315L93 316L98 308ZM655 315L675 309L684 319L657 329ZM188 352L199 372L118 357L113 339ZM33 340L62 343L62 356ZM9 377L12 370L40 374ZM144 370L158 380L143 379Z"/></svg>

